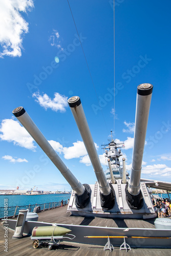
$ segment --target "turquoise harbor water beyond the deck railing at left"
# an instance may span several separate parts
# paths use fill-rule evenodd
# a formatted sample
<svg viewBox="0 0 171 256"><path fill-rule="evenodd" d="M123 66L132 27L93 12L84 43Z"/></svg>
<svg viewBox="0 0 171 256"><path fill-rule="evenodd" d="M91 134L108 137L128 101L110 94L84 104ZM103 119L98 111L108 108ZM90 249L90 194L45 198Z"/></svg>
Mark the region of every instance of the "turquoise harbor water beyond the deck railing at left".
<svg viewBox="0 0 171 256"><path fill-rule="evenodd" d="M50 195L35 195L35 196L26 196L26 195L12 195L12 196L0 196L0 218L13 216L15 207L18 206L16 215L18 214L19 209L27 209L29 204L31 205L31 211L34 207L40 205L40 209L60 205L61 200L63 202L70 199L71 194L50 194ZM7 203L7 204L4 204ZM51 204L50 204L51 203ZM45 205L46 204L46 205ZM8 206L8 209L4 209L4 205Z"/></svg>

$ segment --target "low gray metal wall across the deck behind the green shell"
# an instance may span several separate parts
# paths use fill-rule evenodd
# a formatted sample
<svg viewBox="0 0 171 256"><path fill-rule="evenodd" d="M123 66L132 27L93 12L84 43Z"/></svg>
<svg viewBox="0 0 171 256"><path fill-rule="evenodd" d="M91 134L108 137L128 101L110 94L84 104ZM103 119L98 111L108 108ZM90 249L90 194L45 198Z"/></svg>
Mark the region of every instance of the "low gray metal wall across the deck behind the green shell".
<svg viewBox="0 0 171 256"><path fill-rule="evenodd" d="M14 229L16 220L8 220L9 228ZM31 222L25 223L24 233L31 234L35 226L49 226L52 223L46 222ZM107 242L106 238L84 238L87 236L125 236L125 237L171 237L171 229L155 229L155 228L114 228L114 227L97 227L97 226L79 226L72 224L57 224L60 227L65 227L72 230L72 234L76 236L73 240L75 243L102 245ZM69 241L63 238L63 241ZM123 238L110 238L114 246L120 246L123 243ZM131 247L137 248L171 248L170 239L155 239L155 238L125 238L126 243Z"/></svg>

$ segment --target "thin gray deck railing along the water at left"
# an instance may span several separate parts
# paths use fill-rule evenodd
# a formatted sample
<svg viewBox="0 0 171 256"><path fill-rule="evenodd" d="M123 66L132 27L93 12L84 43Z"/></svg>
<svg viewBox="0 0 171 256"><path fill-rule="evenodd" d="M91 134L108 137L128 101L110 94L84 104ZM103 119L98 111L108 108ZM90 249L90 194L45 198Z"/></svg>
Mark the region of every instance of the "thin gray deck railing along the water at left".
<svg viewBox="0 0 171 256"><path fill-rule="evenodd" d="M63 206L67 204L67 200L63 201ZM44 203L44 204L29 204L29 205L16 205L16 206L10 206L8 207L8 218L15 218L15 216L18 215L19 210L21 209L30 209L30 212L33 212L34 209L40 206L40 210L48 210L48 209L53 209L61 206L61 201L60 202L51 202L51 203ZM6 216L7 217L7 216ZM4 219L4 207L0 207L0 220Z"/></svg>

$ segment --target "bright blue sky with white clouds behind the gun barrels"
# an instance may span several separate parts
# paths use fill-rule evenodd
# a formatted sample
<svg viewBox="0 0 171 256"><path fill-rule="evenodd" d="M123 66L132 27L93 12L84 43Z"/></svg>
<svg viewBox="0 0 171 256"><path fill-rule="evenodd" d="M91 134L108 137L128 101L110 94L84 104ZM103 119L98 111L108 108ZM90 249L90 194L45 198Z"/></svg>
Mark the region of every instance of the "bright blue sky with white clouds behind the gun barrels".
<svg viewBox="0 0 171 256"><path fill-rule="evenodd" d="M67 99L79 96L105 170L101 144L114 132L113 1L1 1L0 189L70 190L13 116L24 106L81 183L96 177ZM132 162L136 92L154 86L142 178L171 182L170 8L166 1L115 1L115 135ZM94 84L94 86L93 86ZM99 101L99 103L98 103Z"/></svg>

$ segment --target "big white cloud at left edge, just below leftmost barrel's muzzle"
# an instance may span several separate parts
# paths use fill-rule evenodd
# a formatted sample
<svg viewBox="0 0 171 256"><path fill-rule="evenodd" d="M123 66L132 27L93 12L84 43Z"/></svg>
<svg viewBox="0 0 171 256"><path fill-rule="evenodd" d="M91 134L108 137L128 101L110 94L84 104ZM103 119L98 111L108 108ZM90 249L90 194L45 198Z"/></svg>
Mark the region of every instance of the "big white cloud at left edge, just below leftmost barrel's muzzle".
<svg viewBox="0 0 171 256"><path fill-rule="evenodd" d="M8 142L13 142L14 145L28 148L35 151L33 138L29 135L26 129L13 119L4 119L1 123L0 138Z"/></svg>

